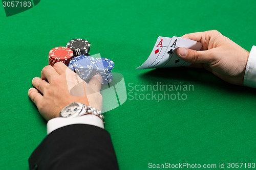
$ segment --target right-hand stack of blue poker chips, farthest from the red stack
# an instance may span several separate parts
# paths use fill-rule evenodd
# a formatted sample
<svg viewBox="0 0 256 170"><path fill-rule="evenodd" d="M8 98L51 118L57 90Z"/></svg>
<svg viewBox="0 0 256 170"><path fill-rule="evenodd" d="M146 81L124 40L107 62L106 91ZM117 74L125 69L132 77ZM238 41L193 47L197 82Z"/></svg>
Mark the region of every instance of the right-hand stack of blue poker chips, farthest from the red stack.
<svg viewBox="0 0 256 170"><path fill-rule="evenodd" d="M94 75L102 76L102 84L107 84L112 81L112 69L114 68L114 62L108 58L96 58L95 65L93 67Z"/></svg>

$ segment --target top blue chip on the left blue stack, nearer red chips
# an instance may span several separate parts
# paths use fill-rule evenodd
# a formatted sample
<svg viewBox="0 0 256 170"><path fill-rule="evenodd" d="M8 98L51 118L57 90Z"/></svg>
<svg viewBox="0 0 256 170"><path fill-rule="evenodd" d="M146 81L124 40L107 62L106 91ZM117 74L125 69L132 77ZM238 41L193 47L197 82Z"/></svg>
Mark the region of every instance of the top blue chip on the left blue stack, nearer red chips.
<svg viewBox="0 0 256 170"><path fill-rule="evenodd" d="M76 71L80 70L92 70L95 65L95 60L89 56L77 56L71 60L71 64Z"/></svg>

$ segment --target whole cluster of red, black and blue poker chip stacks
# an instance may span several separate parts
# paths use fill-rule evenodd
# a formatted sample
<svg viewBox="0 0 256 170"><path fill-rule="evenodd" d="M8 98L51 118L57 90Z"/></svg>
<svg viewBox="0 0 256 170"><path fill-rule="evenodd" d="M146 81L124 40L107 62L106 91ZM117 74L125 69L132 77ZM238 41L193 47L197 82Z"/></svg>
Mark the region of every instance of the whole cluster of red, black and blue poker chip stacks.
<svg viewBox="0 0 256 170"><path fill-rule="evenodd" d="M89 81L94 75L102 76L102 84L112 81L114 62L108 58L90 57L91 44L85 39L72 39L66 47L52 48L49 52L49 65L57 62L65 63L84 81Z"/></svg>

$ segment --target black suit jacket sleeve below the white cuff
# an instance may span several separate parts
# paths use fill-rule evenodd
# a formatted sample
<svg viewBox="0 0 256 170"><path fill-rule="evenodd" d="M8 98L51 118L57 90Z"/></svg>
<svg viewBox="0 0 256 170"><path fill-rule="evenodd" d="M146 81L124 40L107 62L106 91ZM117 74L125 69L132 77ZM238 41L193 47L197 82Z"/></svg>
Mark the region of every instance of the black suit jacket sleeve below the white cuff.
<svg viewBox="0 0 256 170"><path fill-rule="evenodd" d="M29 158L30 169L118 169L110 134L92 125L51 132Z"/></svg>

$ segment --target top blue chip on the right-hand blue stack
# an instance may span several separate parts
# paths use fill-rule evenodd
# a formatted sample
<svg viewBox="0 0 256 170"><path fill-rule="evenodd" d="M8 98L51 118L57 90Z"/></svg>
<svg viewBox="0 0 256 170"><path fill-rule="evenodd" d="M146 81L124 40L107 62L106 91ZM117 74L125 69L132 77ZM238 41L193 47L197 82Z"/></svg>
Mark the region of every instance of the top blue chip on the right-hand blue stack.
<svg viewBox="0 0 256 170"><path fill-rule="evenodd" d="M114 62L108 58L96 58L94 69L100 72L109 72L114 68Z"/></svg>

